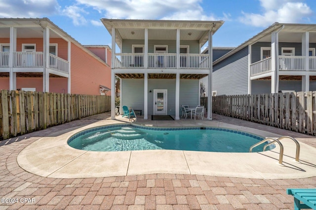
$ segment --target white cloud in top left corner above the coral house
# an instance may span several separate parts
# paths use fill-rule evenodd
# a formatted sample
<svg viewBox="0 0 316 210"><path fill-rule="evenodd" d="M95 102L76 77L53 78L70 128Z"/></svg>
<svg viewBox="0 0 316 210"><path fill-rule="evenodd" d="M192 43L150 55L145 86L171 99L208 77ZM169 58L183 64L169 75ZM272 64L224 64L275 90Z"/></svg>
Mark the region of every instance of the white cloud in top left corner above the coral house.
<svg viewBox="0 0 316 210"><path fill-rule="evenodd" d="M57 0L0 0L0 17L40 18L57 14Z"/></svg>

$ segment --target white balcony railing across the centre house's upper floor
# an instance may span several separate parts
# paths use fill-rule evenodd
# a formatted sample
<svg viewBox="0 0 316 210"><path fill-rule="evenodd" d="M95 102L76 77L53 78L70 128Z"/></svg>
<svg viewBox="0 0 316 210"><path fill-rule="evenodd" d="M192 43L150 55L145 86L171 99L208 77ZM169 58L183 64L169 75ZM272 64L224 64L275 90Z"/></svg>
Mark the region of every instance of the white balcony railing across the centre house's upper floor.
<svg viewBox="0 0 316 210"><path fill-rule="evenodd" d="M149 53L145 66L143 53L117 53L113 68L177 68L177 54ZM208 54L180 54L180 68L208 69Z"/></svg>

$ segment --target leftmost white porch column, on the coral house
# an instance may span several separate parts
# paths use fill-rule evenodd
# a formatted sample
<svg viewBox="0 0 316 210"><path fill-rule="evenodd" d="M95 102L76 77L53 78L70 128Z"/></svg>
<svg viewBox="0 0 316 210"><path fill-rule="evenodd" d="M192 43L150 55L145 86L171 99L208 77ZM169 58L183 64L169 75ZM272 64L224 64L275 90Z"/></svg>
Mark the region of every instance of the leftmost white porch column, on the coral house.
<svg viewBox="0 0 316 210"><path fill-rule="evenodd" d="M16 90L16 72L13 72L13 52L16 52L16 28L10 27L10 51L9 51L9 89Z"/></svg>

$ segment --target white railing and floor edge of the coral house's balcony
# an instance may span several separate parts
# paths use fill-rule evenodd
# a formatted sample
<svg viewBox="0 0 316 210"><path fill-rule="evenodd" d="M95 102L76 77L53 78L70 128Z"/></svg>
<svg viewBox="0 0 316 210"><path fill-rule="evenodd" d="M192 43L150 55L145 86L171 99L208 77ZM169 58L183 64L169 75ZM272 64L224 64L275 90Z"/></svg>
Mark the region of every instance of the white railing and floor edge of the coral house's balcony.
<svg viewBox="0 0 316 210"><path fill-rule="evenodd" d="M0 72L10 72L10 53L0 52ZM49 73L59 76L69 74L69 61L49 54ZM42 52L13 52L13 71L43 72L44 62Z"/></svg>

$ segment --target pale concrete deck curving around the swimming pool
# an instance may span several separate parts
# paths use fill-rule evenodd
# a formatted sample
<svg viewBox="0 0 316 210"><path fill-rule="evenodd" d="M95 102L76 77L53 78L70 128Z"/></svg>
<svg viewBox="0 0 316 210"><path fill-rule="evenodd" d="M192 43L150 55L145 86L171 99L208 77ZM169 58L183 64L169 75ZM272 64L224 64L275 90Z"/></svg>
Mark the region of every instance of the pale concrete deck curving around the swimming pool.
<svg viewBox="0 0 316 210"><path fill-rule="evenodd" d="M282 140L284 146L283 166L278 164L278 146L271 151L253 153L183 150L97 152L77 150L67 144L67 140L79 131L122 122L128 123L128 119L118 116L116 120L100 120L79 128L54 132L38 139L22 150L17 156L17 162L21 168L32 174L56 179L145 174L208 175L249 179L298 179L316 176L316 148L301 142L301 138L297 137L301 145L300 162L295 162L296 145L294 142ZM135 123L158 127L224 127L262 137L281 136L216 119L152 121L139 118ZM306 137L306 135L302 137Z"/></svg>

